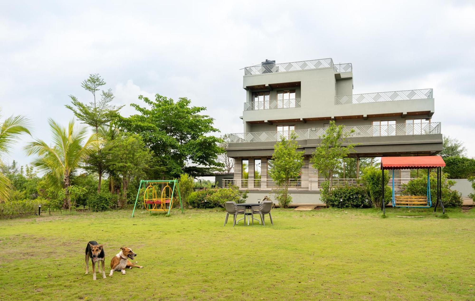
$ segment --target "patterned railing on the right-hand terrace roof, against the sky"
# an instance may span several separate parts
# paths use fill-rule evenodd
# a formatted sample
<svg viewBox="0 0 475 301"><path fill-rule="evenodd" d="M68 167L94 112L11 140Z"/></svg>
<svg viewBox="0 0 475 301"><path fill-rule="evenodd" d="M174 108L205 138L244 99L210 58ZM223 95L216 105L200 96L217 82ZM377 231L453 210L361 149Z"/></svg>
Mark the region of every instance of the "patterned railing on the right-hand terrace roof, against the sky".
<svg viewBox="0 0 475 301"><path fill-rule="evenodd" d="M413 100L427 98L433 98L432 89L338 95L335 96L335 104L377 103L390 102L395 100Z"/></svg>

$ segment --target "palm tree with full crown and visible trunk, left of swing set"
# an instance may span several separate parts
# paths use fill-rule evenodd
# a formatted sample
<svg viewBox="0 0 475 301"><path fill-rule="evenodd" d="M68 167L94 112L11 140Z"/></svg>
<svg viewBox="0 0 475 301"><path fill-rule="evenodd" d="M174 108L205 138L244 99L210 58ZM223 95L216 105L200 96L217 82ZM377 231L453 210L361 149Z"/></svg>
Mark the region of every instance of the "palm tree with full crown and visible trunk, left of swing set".
<svg viewBox="0 0 475 301"><path fill-rule="evenodd" d="M49 185L57 189L65 189L63 208L70 205L71 176L80 167L82 160L97 151L99 147L98 134L93 133L87 138L86 127L74 126L74 119L66 128L61 127L54 120L48 119L52 133L52 146L45 141L35 140L25 146L28 155L38 155L32 164L45 173ZM86 140L87 138L87 140Z"/></svg>

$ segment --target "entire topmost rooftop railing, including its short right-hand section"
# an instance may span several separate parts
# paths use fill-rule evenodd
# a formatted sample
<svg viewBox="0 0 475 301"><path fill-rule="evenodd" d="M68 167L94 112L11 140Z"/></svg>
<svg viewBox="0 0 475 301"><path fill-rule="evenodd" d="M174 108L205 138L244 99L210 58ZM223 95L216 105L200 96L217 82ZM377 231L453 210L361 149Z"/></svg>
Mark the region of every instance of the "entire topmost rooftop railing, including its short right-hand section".
<svg viewBox="0 0 475 301"><path fill-rule="evenodd" d="M301 71L310 69L321 69L333 67L334 72L352 72L352 64L333 64L333 59L322 58L309 61L291 62L276 64L276 61L266 60L260 65L249 66L244 68L244 75L260 75L278 72Z"/></svg>

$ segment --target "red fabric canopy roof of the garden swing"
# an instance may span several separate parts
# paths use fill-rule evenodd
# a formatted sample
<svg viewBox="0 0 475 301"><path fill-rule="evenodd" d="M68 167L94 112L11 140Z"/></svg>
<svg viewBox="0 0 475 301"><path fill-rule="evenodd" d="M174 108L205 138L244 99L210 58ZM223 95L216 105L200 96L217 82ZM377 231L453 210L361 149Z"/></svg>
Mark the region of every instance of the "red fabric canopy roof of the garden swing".
<svg viewBox="0 0 475 301"><path fill-rule="evenodd" d="M419 169L444 167L440 156L381 157L381 169Z"/></svg>

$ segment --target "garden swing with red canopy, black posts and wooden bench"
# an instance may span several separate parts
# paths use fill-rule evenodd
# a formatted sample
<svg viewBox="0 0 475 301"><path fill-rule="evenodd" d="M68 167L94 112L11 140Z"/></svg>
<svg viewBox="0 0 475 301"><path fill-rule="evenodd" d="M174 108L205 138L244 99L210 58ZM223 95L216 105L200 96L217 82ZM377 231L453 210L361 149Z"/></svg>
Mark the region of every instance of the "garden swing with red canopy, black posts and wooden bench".
<svg viewBox="0 0 475 301"><path fill-rule="evenodd" d="M384 169L392 169L392 207L432 207L432 196L430 193L430 169L437 169L437 205L440 202L442 212L445 214L444 204L442 204L442 167L446 164L440 156L420 156L420 157L382 157L381 172ZM425 196L396 196L394 192L394 169L426 169L427 168L427 192ZM384 204L384 181L382 181L381 210L386 213Z"/></svg>

